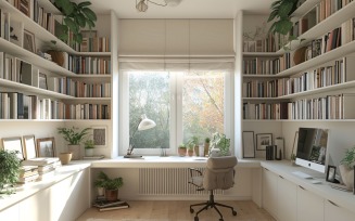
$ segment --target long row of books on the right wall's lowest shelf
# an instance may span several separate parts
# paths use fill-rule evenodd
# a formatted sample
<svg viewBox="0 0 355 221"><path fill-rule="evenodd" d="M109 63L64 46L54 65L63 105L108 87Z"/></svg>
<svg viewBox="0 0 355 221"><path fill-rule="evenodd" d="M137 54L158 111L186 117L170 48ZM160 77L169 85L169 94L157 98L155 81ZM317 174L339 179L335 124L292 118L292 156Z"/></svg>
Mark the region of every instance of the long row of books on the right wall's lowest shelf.
<svg viewBox="0 0 355 221"><path fill-rule="evenodd" d="M281 103L243 103L243 119L355 119L355 94Z"/></svg>

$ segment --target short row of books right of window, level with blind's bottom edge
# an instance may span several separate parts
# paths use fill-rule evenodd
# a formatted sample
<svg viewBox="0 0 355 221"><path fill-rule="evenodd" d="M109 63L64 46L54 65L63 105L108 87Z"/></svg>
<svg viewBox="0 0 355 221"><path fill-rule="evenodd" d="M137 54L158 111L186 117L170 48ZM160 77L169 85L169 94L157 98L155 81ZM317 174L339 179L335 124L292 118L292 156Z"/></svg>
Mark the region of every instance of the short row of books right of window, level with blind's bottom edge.
<svg viewBox="0 0 355 221"><path fill-rule="evenodd" d="M245 75L276 75L280 72L280 58L244 57L243 60L243 73Z"/></svg>

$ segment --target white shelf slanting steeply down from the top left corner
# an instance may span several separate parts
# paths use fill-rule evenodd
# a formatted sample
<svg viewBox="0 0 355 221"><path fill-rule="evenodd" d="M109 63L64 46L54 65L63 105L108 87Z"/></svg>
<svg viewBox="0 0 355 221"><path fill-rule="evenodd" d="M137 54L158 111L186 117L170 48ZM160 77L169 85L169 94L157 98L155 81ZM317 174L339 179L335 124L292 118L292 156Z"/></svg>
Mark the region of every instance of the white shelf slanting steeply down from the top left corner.
<svg viewBox="0 0 355 221"><path fill-rule="evenodd" d="M45 0L42 0L45 2ZM20 12L15 6L11 5L5 0L0 0L1 9L10 12L10 21L13 17L16 17L16 21L21 21L25 25L25 29L29 30L30 32L35 34L35 37L43 42L48 42L48 46L51 46L51 41L56 41L55 48L62 51L66 51L68 53L75 53L74 49L68 47L62 40L56 38L54 35L49 32L46 28L38 25L35 21L30 17L26 16L24 13Z"/></svg>

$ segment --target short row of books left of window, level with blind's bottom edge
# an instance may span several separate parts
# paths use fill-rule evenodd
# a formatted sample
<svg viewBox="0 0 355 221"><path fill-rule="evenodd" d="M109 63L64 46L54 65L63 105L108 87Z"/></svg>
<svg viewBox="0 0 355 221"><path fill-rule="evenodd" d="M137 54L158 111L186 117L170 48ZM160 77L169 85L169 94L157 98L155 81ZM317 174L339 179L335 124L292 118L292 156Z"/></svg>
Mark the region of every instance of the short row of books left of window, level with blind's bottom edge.
<svg viewBox="0 0 355 221"><path fill-rule="evenodd" d="M111 73L111 58L68 55L65 68L75 74L109 75Z"/></svg>

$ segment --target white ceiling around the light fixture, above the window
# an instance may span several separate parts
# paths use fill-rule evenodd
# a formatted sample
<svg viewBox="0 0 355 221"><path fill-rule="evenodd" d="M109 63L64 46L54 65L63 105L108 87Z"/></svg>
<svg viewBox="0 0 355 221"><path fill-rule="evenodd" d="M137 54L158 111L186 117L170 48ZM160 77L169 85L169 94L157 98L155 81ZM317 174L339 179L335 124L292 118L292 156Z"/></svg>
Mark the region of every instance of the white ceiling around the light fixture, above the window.
<svg viewBox="0 0 355 221"><path fill-rule="evenodd" d="M83 0L75 0L81 2ZM114 10L119 18L233 18L240 10L248 14L268 14L275 0L182 0L175 8L148 4L147 12L136 10L136 0L90 0L97 14ZM152 0L164 3L164 0Z"/></svg>

